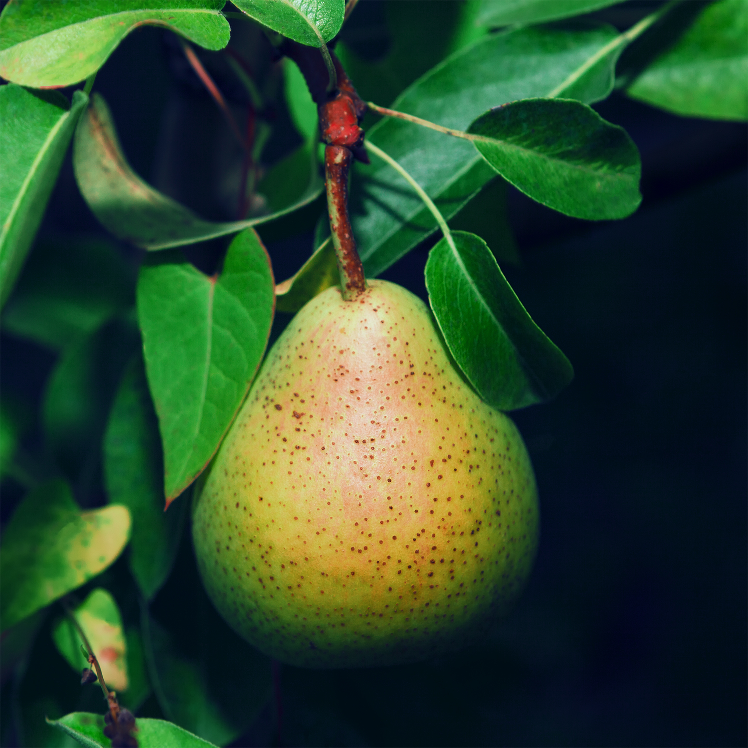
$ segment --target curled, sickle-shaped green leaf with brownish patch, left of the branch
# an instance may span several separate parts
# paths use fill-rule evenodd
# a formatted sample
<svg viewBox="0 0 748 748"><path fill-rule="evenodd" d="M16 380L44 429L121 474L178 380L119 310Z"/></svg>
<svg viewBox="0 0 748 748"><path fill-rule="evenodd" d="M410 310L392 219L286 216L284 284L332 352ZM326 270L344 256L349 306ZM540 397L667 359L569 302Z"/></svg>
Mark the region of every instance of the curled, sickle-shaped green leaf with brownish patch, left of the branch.
<svg viewBox="0 0 748 748"><path fill-rule="evenodd" d="M286 162L281 163L285 167ZM304 177L299 177L296 171L295 180L283 192L290 194L289 203L278 205L277 197L271 196L274 197L271 209L275 212L246 221L215 223L203 220L156 191L132 171L122 153L109 108L98 94L92 97L73 144L76 180L93 214L114 236L152 250L237 233L312 202L322 192L324 184L316 167L310 168L311 156L304 163L307 165ZM270 174L266 179L269 178Z"/></svg>

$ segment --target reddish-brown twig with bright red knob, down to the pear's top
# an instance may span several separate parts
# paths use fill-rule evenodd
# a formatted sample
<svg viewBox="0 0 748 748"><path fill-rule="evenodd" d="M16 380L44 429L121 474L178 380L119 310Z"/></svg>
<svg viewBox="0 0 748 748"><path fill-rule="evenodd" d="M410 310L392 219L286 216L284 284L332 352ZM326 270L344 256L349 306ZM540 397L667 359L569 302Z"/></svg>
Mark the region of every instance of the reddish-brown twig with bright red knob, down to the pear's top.
<svg viewBox="0 0 748 748"><path fill-rule="evenodd" d="M328 92L330 76L319 49L289 40L281 51L298 65L317 105L319 134L325 143L325 186L332 242L343 298L352 301L366 290L366 280L349 218L348 175L353 159L369 163L364 130L359 126L367 105L335 55L331 57L337 74L337 91Z"/></svg>

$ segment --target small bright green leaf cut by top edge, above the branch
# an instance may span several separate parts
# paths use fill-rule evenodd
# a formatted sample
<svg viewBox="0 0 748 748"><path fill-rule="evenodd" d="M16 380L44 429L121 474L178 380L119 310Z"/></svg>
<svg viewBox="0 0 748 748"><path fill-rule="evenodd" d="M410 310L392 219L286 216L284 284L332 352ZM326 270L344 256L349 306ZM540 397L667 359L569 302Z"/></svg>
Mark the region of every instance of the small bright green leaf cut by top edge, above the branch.
<svg viewBox="0 0 748 748"><path fill-rule="evenodd" d="M345 0L235 0L234 5L278 34L322 46L343 25Z"/></svg>

